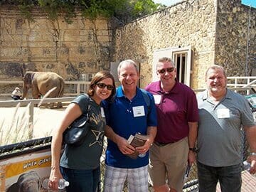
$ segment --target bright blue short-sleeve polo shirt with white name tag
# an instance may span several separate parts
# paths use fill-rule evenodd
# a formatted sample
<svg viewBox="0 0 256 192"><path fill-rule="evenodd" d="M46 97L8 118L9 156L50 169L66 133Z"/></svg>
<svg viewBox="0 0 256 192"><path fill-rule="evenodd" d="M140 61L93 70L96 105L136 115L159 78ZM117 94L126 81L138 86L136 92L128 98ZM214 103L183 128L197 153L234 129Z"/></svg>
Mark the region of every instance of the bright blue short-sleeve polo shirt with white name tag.
<svg viewBox="0 0 256 192"><path fill-rule="evenodd" d="M105 115L107 125L121 137L128 139L137 132L146 134L147 127L156 127L156 108L153 96L147 92L150 99L150 110L144 101L142 91L137 88L137 93L132 100L124 96L122 87L117 88L117 95L113 102L105 102ZM117 144L107 140L105 163L119 168L139 168L149 164L149 154L143 158L131 159L119 151Z"/></svg>

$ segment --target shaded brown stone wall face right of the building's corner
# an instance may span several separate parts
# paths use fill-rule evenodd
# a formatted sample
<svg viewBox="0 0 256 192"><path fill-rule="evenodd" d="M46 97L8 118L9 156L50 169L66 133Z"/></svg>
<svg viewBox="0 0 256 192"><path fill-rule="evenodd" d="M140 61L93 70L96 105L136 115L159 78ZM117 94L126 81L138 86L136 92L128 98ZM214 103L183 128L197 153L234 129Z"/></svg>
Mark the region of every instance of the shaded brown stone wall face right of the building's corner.
<svg viewBox="0 0 256 192"><path fill-rule="evenodd" d="M230 76L256 75L256 9L240 0L219 0L216 31L215 63Z"/></svg>

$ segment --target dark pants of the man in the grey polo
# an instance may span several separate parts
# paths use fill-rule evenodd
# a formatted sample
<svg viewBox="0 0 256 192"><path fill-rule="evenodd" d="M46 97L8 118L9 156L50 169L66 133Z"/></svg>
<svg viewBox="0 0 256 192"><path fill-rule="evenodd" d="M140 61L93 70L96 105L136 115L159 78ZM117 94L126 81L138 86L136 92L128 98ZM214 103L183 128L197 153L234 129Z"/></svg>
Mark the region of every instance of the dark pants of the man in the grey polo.
<svg viewBox="0 0 256 192"><path fill-rule="evenodd" d="M242 186L241 165L206 166L197 162L200 192L215 192L218 181L222 192L240 192Z"/></svg>

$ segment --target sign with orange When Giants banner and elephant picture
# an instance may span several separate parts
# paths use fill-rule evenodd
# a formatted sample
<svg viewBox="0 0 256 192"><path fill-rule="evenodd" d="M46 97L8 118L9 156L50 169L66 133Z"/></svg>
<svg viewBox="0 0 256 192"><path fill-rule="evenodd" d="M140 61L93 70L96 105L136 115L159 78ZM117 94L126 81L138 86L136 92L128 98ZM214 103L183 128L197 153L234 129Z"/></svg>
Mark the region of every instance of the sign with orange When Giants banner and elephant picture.
<svg viewBox="0 0 256 192"><path fill-rule="evenodd" d="M0 161L0 191L46 191L43 179L50 175L50 149Z"/></svg>

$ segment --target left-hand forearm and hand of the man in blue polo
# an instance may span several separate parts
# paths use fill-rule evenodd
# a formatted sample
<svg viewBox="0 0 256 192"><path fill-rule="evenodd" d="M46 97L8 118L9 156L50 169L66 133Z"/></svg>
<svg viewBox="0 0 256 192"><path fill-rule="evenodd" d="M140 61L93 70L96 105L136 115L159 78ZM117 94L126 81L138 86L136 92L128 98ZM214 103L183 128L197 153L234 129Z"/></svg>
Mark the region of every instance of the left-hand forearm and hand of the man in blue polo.
<svg viewBox="0 0 256 192"><path fill-rule="evenodd" d="M117 144L122 154L132 154L135 151L134 147L127 143L127 139L116 134L108 125L106 125L105 135L108 139Z"/></svg>

